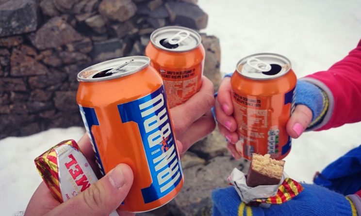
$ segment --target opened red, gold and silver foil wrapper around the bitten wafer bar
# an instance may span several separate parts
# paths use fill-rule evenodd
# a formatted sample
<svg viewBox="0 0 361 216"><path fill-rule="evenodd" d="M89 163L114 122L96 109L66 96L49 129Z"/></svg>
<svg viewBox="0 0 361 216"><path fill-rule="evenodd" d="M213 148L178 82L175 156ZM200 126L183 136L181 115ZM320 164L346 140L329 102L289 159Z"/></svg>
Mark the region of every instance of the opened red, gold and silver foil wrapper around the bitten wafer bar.
<svg viewBox="0 0 361 216"><path fill-rule="evenodd" d="M228 178L241 200L249 205L269 207L270 204L282 204L297 196L303 186L283 173L279 185L259 185L250 187L246 184L246 174L234 168Z"/></svg>

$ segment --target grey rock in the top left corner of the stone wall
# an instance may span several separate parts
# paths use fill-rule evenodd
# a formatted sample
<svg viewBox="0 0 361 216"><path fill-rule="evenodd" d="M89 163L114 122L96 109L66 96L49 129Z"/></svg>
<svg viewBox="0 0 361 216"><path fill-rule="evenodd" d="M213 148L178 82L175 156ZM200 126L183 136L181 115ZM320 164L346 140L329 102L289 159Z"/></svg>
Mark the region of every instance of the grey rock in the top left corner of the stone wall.
<svg viewBox="0 0 361 216"><path fill-rule="evenodd" d="M36 26L34 0L9 0L0 4L0 37L35 31Z"/></svg>

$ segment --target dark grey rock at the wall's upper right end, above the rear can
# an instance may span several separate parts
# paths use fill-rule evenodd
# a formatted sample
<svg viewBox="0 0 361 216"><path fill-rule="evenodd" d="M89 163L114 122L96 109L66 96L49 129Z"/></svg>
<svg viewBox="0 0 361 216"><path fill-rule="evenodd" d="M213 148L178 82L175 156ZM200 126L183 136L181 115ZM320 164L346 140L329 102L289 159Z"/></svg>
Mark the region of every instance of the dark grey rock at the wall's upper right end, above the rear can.
<svg viewBox="0 0 361 216"><path fill-rule="evenodd" d="M208 15L198 5L171 1L166 3L166 8L173 24L198 30L207 27Z"/></svg>

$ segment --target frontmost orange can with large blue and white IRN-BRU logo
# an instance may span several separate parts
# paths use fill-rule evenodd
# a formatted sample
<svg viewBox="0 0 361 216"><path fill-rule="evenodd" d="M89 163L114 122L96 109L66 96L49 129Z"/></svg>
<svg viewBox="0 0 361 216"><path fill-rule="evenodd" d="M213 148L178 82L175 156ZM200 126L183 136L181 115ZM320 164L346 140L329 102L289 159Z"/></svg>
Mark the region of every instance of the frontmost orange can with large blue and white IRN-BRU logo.
<svg viewBox="0 0 361 216"><path fill-rule="evenodd" d="M162 77L144 56L101 62L78 74L77 102L102 174L131 166L119 209L144 212L171 201L183 173Z"/></svg>

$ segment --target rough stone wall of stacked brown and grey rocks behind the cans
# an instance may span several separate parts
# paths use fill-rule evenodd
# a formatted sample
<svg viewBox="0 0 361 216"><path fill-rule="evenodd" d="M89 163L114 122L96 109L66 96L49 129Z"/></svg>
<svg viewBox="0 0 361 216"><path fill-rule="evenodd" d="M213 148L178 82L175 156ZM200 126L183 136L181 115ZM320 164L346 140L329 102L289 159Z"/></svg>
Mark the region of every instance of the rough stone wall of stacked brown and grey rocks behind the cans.
<svg viewBox="0 0 361 216"><path fill-rule="evenodd" d="M83 126L76 103L83 68L144 55L152 31L168 25L206 28L197 0L0 0L0 139L53 127ZM201 34L204 75L220 82L220 46ZM25 144L25 143L24 143ZM234 167L226 141L213 131L183 159L185 185L170 203L142 215L209 215L211 190Z"/></svg>

